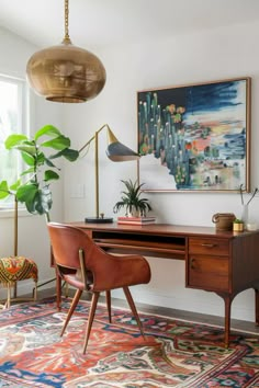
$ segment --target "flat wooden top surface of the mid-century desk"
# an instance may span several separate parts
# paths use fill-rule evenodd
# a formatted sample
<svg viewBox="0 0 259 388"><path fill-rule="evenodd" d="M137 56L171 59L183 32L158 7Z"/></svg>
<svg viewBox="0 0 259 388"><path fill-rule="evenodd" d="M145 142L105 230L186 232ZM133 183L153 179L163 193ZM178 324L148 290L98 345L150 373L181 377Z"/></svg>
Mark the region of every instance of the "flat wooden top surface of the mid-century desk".
<svg viewBox="0 0 259 388"><path fill-rule="evenodd" d="M207 236L232 239L236 237L245 237L252 233L259 233L256 231L222 231L216 230L215 227L201 227L201 226L182 226L171 224L149 224L149 225L124 225L117 222L111 224L87 224L82 221L68 222L67 225L75 226L81 229L120 232L120 233L143 233L143 235L167 235L167 236Z"/></svg>

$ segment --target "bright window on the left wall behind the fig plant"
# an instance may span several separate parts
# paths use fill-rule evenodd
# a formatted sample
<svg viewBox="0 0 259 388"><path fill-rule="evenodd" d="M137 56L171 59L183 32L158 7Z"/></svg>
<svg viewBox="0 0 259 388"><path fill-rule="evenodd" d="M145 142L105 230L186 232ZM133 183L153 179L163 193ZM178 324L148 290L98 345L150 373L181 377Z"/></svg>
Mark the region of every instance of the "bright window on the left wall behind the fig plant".
<svg viewBox="0 0 259 388"><path fill-rule="evenodd" d="M4 147L7 137L14 133L26 134L26 83L24 80L0 76L0 182L14 183L22 161L18 152ZM12 196L0 202L0 207L13 205Z"/></svg>

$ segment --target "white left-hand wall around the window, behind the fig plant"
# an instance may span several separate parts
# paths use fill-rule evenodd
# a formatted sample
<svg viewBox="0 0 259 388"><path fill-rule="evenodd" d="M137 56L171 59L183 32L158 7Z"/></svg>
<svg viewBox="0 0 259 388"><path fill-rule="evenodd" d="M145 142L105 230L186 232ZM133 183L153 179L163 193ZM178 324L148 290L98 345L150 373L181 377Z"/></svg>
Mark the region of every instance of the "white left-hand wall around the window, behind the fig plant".
<svg viewBox="0 0 259 388"><path fill-rule="evenodd" d="M0 73L24 78L26 62L35 49L34 46L18 36L0 28ZM34 96L33 93L31 117L32 132L40 129L45 124L54 124L59 127L60 107ZM60 187L54 186L55 198L52 216L55 219L61 218L61 185ZM0 256L13 254L13 213L0 210ZM54 276L54 271L49 267L49 242L44 217L29 215L25 210L20 212L18 253L35 260L38 265L40 284ZM32 289L30 281L20 282L20 294ZM54 286L54 284L49 286ZM0 298L4 295L5 292L0 289Z"/></svg>

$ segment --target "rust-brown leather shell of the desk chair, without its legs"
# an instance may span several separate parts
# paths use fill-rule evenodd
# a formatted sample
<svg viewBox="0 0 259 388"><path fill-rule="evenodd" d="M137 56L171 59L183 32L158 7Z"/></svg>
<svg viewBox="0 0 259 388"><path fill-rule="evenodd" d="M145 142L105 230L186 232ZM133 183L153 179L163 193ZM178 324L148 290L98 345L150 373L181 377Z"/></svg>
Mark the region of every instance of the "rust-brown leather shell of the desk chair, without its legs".
<svg viewBox="0 0 259 388"><path fill-rule="evenodd" d="M61 277L79 275L85 285L91 281L92 289L113 289L124 285L148 283L150 269L143 256L119 258L99 248L81 229L48 222L55 263ZM65 271L64 271L65 269Z"/></svg>

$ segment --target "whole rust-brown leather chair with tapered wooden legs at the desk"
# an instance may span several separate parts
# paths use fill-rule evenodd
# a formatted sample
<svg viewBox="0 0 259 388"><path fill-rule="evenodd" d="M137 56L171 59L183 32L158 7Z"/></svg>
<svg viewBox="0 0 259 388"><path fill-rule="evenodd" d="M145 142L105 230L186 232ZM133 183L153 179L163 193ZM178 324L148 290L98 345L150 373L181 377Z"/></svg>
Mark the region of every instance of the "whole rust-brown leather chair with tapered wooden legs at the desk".
<svg viewBox="0 0 259 388"><path fill-rule="evenodd" d="M48 231L58 276L78 289L63 332L82 290L91 290L94 294L95 300L93 298L93 305L97 304L100 292L106 292L108 309L110 311L110 290L120 287L123 288L142 331L142 324L128 286L146 284L150 281L150 267L147 260L140 255L117 256L109 254L100 249L83 230L76 227L48 222ZM93 319L95 306L92 306L91 310L90 322ZM89 333L85 341L83 353L90 330L91 323L90 329L88 328ZM144 335L143 331L142 334Z"/></svg>

